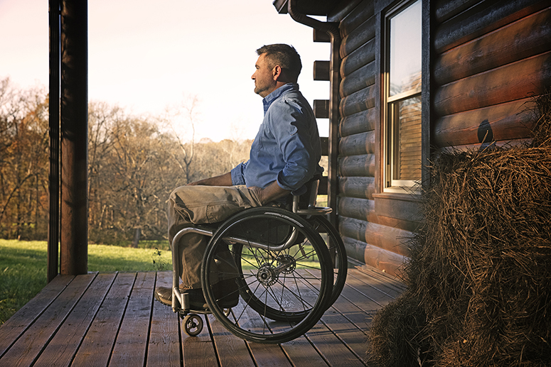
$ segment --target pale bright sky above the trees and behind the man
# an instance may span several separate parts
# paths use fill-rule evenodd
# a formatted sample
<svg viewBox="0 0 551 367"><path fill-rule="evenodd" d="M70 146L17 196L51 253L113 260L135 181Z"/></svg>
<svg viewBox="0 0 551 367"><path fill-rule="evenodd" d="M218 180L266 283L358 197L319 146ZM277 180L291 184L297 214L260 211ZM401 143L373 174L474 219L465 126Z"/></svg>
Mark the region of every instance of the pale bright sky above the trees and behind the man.
<svg viewBox="0 0 551 367"><path fill-rule="evenodd" d="M250 77L255 50L270 43L299 52L311 104L328 99L328 82L312 77L314 60L329 60L328 43L314 43L312 29L278 14L272 0L88 0L88 99L159 116L196 96L196 141L254 138L263 112ZM0 0L4 77L22 89L48 87L48 0ZM319 130L328 135L327 121Z"/></svg>

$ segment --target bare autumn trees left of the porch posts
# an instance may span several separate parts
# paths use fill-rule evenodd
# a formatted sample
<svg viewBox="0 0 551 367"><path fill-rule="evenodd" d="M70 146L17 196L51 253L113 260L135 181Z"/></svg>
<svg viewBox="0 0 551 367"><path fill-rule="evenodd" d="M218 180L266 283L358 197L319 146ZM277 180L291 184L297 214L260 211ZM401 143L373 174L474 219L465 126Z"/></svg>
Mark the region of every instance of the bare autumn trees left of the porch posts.
<svg viewBox="0 0 551 367"><path fill-rule="evenodd" d="M0 231L7 238L38 236L46 217L47 106L42 90L0 80Z"/></svg>

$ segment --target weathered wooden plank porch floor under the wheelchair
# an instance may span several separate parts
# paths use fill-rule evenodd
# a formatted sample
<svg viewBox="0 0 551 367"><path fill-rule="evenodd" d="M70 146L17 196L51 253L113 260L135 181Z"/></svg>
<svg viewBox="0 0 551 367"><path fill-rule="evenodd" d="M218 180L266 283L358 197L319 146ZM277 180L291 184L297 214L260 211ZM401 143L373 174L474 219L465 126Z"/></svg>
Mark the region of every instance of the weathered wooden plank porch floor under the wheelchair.
<svg viewBox="0 0 551 367"><path fill-rule="evenodd" d="M247 343L208 315L187 336L154 301L171 272L59 275L0 327L0 366L368 366L376 310L403 291L378 270L352 268L335 302L304 336ZM204 316L203 316L204 317Z"/></svg>

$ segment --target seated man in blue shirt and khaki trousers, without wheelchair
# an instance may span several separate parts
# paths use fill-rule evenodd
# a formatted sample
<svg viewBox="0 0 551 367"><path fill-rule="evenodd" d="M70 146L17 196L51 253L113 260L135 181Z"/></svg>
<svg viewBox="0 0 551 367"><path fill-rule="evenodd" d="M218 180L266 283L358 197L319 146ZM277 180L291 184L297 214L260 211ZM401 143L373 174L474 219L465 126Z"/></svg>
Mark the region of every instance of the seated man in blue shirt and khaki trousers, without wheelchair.
<svg viewBox="0 0 551 367"><path fill-rule="evenodd" d="M301 195L305 183L320 175L321 146L311 106L296 84L301 60L296 50L284 44L264 45L257 50L255 93L263 97L264 120L253 141L250 159L224 175L176 188L168 200L168 238L187 226L216 224L250 207L283 206L290 194ZM208 237L189 233L181 238L178 271L180 289L188 294L192 310L206 310L200 281L203 253ZM230 251L218 255L220 274L234 267ZM239 292L234 278L220 275L214 284L220 307L235 307ZM156 300L172 305L172 290L156 287ZM228 297L223 297L228 295Z"/></svg>

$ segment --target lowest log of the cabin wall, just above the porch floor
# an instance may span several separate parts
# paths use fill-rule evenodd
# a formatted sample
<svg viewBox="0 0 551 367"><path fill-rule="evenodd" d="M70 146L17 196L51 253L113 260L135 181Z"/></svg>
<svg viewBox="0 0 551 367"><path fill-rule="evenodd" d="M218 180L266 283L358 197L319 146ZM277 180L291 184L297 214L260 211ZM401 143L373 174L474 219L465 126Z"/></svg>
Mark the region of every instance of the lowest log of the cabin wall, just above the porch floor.
<svg viewBox="0 0 551 367"><path fill-rule="evenodd" d="M402 272L407 260L405 256L348 237L343 237L343 243L348 258L361 261L365 265L383 270L393 276L397 276Z"/></svg>

